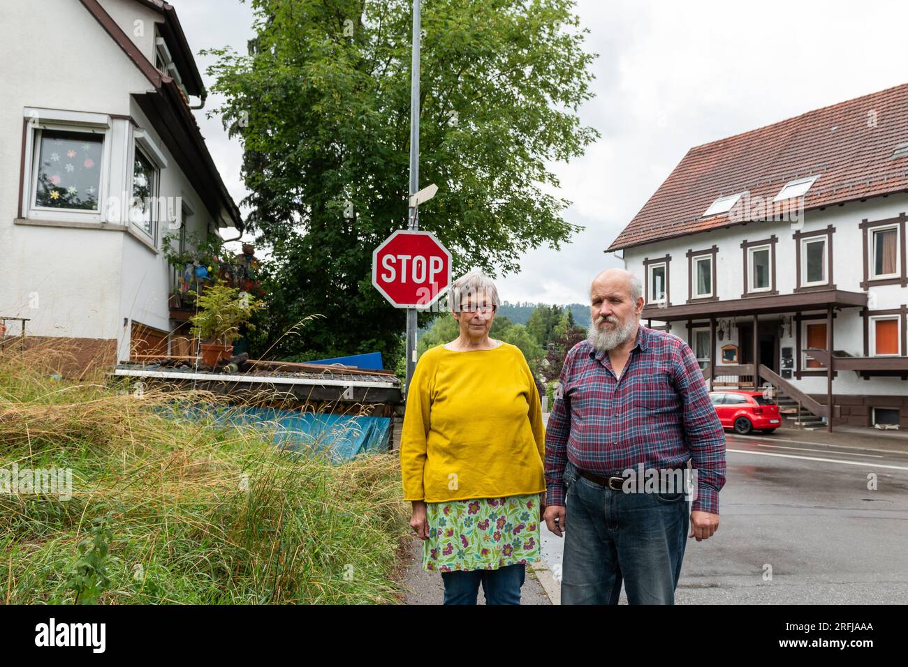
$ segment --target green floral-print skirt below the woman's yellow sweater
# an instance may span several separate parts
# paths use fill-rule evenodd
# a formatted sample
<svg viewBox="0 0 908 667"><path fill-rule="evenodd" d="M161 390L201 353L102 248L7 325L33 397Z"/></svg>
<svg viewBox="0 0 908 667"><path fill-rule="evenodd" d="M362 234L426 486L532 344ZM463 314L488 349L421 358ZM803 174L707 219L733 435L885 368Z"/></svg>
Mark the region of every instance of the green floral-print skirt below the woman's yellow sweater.
<svg viewBox="0 0 908 667"><path fill-rule="evenodd" d="M497 570L539 559L539 494L427 503L424 570Z"/></svg>

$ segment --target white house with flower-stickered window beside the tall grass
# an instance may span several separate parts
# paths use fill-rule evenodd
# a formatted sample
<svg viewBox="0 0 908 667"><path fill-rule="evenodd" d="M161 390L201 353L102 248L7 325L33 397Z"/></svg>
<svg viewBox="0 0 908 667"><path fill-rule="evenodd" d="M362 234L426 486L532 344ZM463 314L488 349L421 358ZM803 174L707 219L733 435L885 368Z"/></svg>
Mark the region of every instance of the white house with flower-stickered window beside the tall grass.
<svg viewBox="0 0 908 667"><path fill-rule="evenodd" d="M164 236L242 231L192 115L205 91L173 6L41 0L3 15L0 318L27 319L27 340L73 338L77 366L113 366L137 338L169 347Z"/></svg>

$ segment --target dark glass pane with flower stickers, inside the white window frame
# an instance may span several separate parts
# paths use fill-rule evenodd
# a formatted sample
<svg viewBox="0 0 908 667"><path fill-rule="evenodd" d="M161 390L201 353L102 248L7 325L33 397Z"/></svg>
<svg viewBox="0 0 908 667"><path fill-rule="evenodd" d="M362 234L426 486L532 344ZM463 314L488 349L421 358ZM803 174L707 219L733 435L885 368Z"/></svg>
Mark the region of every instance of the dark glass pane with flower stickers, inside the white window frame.
<svg viewBox="0 0 908 667"><path fill-rule="evenodd" d="M103 135L42 130L35 206L99 211Z"/></svg>

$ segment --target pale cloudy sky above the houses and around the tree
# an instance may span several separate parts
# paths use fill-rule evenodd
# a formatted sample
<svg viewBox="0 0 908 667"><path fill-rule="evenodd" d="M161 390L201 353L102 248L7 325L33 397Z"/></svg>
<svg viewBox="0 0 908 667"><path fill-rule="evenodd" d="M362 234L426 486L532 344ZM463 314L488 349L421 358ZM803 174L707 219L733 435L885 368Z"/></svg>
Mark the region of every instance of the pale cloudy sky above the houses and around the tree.
<svg viewBox="0 0 908 667"><path fill-rule="evenodd" d="M230 45L245 53L249 5L170 2L194 51ZM587 49L599 55L596 97L581 120L602 136L582 158L552 168L573 202L566 218L586 229L558 252L529 252L520 273L499 280L512 302L585 302L595 273L621 265L603 250L691 146L908 81L901 1L580 0L577 12L590 31ZM207 59L199 61L203 70ZM210 97L208 106L216 104ZM197 115L242 200L239 142L217 119Z"/></svg>

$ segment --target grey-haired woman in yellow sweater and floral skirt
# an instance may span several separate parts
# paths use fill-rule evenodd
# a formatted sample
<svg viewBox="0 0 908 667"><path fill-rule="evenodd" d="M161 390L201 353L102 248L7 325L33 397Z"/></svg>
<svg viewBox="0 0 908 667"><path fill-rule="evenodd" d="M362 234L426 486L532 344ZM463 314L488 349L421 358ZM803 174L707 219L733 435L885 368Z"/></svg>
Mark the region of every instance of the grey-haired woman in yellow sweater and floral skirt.
<svg viewBox="0 0 908 667"><path fill-rule="evenodd" d="M539 558L545 428L519 348L489 338L498 289L479 271L455 281L460 334L419 358L400 437L404 499L441 573L445 604L519 604L525 564Z"/></svg>

